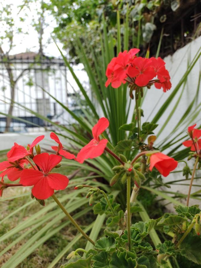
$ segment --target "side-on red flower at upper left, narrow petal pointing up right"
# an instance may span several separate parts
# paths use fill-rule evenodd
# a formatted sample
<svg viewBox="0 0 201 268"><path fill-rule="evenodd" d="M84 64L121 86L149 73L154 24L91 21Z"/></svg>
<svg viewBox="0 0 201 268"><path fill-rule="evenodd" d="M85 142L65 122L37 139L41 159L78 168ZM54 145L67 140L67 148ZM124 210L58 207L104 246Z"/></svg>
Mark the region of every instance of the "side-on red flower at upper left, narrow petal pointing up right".
<svg viewBox="0 0 201 268"><path fill-rule="evenodd" d="M7 158L9 161L13 162L16 160L19 160L21 158L24 158L27 155L32 155L33 153L33 147L35 147L36 144L38 144L42 139L44 138L44 135L41 135L32 142L29 146L29 150L26 150L23 146L18 145L16 142L14 143L14 146L10 149L9 152L7 152Z"/></svg>

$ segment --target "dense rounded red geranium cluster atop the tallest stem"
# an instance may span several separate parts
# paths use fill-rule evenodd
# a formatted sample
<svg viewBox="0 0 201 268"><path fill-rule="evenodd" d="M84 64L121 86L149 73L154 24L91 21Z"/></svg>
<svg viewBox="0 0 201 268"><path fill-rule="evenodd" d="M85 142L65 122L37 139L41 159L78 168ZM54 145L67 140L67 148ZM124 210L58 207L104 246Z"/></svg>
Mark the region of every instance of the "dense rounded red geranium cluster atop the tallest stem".
<svg viewBox="0 0 201 268"><path fill-rule="evenodd" d="M151 86L163 88L166 92L171 88L169 72L165 68L165 62L160 58L136 57L139 49L130 49L120 52L118 57L114 57L107 66L107 81L105 86L110 83L113 88L118 88L121 83L126 81L138 87ZM155 80L155 77L157 77Z"/></svg>

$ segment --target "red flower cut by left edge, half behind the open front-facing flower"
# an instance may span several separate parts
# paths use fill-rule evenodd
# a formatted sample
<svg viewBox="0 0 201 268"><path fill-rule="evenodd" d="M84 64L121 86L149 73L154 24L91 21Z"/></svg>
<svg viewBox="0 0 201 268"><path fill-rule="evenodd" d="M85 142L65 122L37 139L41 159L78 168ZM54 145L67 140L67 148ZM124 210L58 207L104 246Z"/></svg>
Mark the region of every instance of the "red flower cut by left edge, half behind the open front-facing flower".
<svg viewBox="0 0 201 268"><path fill-rule="evenodd" d="M0 163L0 171L3 171L0 174L0 177L7 175L8 179L11 181L15 181L19 179L22 169L24 168L24 164L28 162L24 159L17 161L17 163L10 163L9 161L3 161Z"/></svg>

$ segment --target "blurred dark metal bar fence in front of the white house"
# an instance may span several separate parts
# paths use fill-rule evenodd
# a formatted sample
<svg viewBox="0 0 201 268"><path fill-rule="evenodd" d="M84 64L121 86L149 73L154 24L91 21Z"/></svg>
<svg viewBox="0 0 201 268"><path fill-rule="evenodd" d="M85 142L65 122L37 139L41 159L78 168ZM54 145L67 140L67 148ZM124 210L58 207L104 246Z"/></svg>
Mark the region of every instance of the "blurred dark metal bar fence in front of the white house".
<svg viewBox="0 0 201 268"><path fill-rule="evenodd" d="M5 131L6 115L9 113L12 97L9 72L15 81L15 94L13 118L8 131L39 131L51 125L37 114L60 124L67 124L71 120L70 117L66 118L64 109L49 96L51 94L64 105L72 109L75 106L76 109L71 98L73 94L68 91L67 70L63 60L41 58L32 52L21 53L6 60L0 58L0 133Z"/></svg>

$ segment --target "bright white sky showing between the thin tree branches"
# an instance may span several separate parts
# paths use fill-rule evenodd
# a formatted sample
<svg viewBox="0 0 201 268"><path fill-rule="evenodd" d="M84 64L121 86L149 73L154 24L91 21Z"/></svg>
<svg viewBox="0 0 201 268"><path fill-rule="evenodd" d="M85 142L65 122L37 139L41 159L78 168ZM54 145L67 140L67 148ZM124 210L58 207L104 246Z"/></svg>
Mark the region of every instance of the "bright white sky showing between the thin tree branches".
<svg viewBox="0 0 201 268"><path fill-rule="evenodd" d="M49 2L49 0L46 0L46 2ZM32 4L30 10L24 9L19 14L17 14L19 11L17 7L22 3L22 0L0 0L0 6L2 4L3 6L5 6L6 4L12 4L12 14L16 27L21 27L23 32L28 32L28 34L17 34L14 36L13 43L15 47L12 49L10 54L26 52L27 50L38 52L39 49L38 33L36 32L34 27L31 26L32 19L37 18L36 4ZM21 22L20 17L25 18L26 20L24 22ZM48 44L48 40L51 37L51 32L53 28L56 26L56 22L54 21L54 18L50 14L47 15L47 13L45 19L46 23L49 24L49 26L44 29L43 34L44 54L54 57L60 57L60 52L58 51L54 42L51 41L51 43ZM2 21L0 21L0 29L1 31L5 29ZM60 48L62 48L62 44L57 44ZM9 49L8 43L3 44L3 49Z"/></svg>

